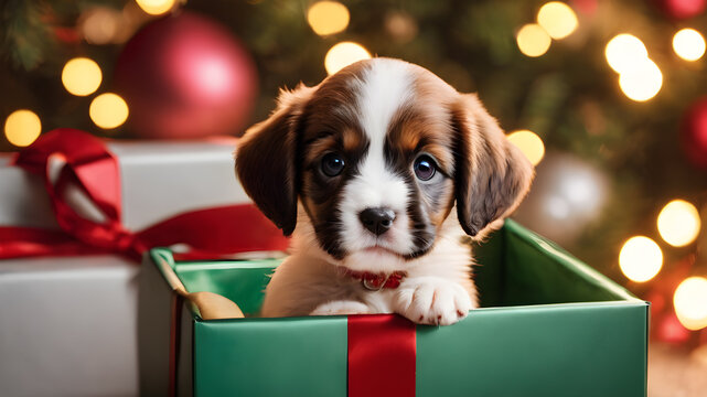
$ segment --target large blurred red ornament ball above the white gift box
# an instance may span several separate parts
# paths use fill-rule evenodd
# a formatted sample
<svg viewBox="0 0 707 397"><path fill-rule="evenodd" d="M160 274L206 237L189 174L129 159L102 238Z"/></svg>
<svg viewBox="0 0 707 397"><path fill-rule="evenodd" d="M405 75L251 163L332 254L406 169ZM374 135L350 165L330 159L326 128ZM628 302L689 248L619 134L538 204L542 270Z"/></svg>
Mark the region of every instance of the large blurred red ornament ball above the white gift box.
<svg viewBox="0 0 707 397"><path fill-rule="evenodd" d="M257 73L248 52L216 22L191 12L156 20L126 44L115 75L143 138L233 135L253 110Z"/></svg>

